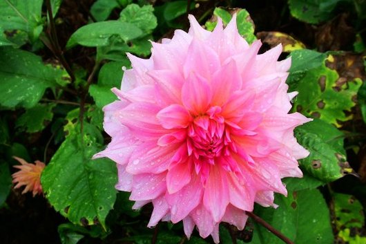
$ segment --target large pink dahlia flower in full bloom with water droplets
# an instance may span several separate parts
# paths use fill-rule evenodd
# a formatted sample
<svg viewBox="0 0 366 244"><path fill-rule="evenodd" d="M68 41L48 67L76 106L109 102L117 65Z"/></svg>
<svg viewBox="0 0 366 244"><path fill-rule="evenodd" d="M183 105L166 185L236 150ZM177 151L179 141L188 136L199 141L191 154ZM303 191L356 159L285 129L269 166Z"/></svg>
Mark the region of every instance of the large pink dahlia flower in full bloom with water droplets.
<svg viewBox="0 0 366 244"><path fill-rule="evenodd" d="M128 55L118 99L104 107L112 137L95 158L117 162L120 191L135 209L153 203L148 223L183 220L190 236L218 243L218 225L243 229L253 204L274 206L287 194L281 178L301 177L297 160L309 152L293 137L308 122L290 113L285 80L291 59L277 62L279 45L258 55L238 33L235 16L213 32L189 17L189 32L153 43L150 59Z"/></svg>

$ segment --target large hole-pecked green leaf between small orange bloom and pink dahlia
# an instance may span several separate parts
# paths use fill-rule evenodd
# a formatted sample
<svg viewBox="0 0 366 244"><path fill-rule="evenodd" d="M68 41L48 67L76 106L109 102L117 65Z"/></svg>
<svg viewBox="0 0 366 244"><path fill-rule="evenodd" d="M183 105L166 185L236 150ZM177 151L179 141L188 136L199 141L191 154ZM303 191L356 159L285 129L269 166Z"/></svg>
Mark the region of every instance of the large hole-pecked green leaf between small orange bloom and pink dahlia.
<svg viewBox="0 0 366 244"><path fill-rule="evenodd" d="M103 147L95 126L84 122L84 133L77 124L74 128L44 169L41 184L50 204L72 223L100 223L105 229L116 199L116 167L107 159L91 159Z"/></svg>

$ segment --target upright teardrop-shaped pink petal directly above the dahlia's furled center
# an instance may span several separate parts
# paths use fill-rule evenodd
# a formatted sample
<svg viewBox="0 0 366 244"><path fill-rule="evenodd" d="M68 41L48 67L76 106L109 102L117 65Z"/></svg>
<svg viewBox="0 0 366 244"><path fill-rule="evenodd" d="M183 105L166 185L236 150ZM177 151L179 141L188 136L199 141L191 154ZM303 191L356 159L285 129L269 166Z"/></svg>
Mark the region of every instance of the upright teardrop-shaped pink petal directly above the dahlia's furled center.
<svg viewBox="0 0 366 244"><path fill-rule="evenodd" d="M182 102L186 109L198 115L209 109L212 99L211 86L202 78L191 73L182 87Z"/></svg>

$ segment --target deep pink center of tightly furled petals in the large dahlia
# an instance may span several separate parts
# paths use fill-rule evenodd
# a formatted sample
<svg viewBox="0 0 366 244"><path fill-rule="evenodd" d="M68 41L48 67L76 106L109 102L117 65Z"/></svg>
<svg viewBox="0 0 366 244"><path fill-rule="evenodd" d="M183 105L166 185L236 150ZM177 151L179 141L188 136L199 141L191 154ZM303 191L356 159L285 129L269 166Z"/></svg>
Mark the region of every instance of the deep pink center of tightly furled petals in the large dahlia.
<svg viewBox="0 0 366 244"><path fill-rule="evenodd" d="M201 115L193 120L188 128L189 155L214 164L214 158L227 154L229 134L225 130L223 118Z"/></svg>

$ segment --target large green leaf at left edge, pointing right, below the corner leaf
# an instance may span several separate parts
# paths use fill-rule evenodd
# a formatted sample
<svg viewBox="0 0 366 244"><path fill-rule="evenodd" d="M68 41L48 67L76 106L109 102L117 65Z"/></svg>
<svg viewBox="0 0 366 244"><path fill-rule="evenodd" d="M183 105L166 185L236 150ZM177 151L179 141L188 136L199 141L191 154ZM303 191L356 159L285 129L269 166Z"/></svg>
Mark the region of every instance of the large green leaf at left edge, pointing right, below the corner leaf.
<svg viewBox="0 0 366 244"><path fill-rule="evenodd" d="M55 88L64 72L41 57L15 48L0 48L0 105L6 109L35 106L46 88Z"/></svg>

